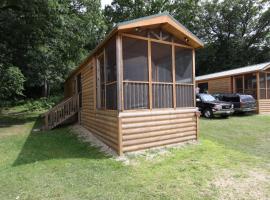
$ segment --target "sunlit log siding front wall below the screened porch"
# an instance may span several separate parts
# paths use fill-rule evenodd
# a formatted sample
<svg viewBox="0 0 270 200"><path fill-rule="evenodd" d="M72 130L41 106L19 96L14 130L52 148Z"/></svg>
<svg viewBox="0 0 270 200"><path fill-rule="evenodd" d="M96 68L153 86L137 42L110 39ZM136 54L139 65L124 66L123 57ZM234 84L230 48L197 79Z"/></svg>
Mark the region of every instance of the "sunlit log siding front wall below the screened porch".
<svg viewBox="0 0 270 200"><path fill-rule="evenodd" d="M195 109L122 112L123 152L197 139Z"/></svg>

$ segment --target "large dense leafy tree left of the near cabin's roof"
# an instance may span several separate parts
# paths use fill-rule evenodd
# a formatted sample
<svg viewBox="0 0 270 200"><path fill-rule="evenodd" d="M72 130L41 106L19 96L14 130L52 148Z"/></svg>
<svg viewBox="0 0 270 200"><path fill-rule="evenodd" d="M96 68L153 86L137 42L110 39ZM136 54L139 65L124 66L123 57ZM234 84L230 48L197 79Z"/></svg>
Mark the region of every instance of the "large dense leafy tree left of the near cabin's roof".
<svg viewBox="0 0 270 200"><path fill-rule="evenodd" d="M2 1L0 27L0 63L18 66L26 89L43 87L45 96L63 84L106 29L97 0Z"/></svg>

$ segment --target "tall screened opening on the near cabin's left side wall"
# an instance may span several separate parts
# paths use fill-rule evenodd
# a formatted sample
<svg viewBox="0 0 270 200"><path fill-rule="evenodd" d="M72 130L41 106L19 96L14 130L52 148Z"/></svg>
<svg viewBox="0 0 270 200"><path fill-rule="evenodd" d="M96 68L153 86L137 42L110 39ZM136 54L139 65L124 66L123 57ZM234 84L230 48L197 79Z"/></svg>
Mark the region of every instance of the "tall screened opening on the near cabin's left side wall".
<svg viewBox="0 0 270 200"><path fill-rule="evenodd" d="M97 58L97 108L117 109L115 38L108 42Z"/></svg>

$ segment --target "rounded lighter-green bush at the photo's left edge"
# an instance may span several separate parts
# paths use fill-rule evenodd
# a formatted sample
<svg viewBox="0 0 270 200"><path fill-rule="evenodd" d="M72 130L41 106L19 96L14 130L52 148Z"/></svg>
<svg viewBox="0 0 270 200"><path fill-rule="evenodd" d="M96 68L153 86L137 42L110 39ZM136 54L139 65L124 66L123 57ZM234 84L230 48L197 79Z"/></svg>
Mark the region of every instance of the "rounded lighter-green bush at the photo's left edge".
<svg viewBox="0 0 270 200"><path fill-rule="evenodd" d="M22 96L25 77L18 67L0 64L0 102Z"/></svg>

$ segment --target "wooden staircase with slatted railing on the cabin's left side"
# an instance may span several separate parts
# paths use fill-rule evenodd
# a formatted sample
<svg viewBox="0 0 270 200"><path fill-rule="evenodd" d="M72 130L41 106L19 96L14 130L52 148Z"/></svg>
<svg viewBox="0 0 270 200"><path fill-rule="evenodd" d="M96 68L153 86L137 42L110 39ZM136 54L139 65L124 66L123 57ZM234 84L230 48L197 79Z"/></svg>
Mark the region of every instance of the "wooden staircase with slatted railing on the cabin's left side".
<svg viewBox="0 0 270 200"><path fill-rule="evenodd" d="M79 94L75 94L74 96L60 102L42 115L45 119L44 129L53 129L67 119L73 117L75 114L78 114L79 110ZM80 120L79 115L78 120Z"/></svg>

